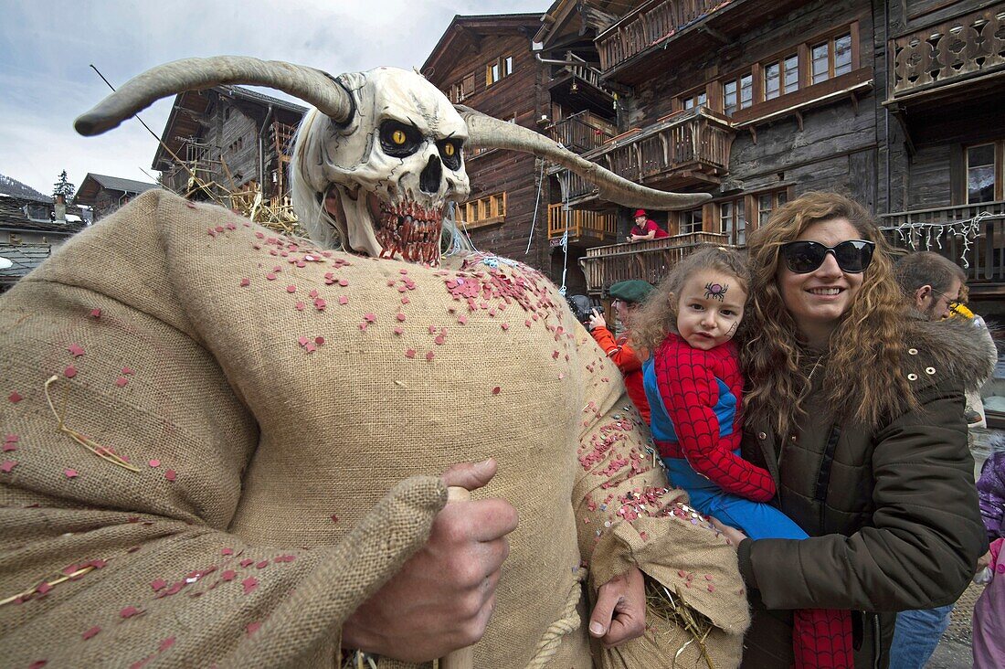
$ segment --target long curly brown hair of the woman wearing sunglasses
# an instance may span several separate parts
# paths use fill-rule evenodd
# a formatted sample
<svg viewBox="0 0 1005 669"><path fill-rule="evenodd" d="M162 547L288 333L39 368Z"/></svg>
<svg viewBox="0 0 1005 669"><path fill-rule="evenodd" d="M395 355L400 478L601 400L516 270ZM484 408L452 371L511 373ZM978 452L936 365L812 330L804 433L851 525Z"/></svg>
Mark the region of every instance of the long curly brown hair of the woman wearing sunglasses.
<svg viewBox="0 0 1005 669"><path fill-rule="evenodd" d="M846 219L863 239L874 241L872 263L851 308L831 333L824 351L822 387L830 406L846 407L844 417L875 427L884 416L917 405L901 373L901 330L908 305L893 277L889 248L871 214L842 195L808 192L780 207L751 235L753 290L749 344L744 371L749 392L747 416L774 426L780 437L803 413L809 378L800 365L807 353L799 329L778 290L779 249L814 223Z"/></svg>

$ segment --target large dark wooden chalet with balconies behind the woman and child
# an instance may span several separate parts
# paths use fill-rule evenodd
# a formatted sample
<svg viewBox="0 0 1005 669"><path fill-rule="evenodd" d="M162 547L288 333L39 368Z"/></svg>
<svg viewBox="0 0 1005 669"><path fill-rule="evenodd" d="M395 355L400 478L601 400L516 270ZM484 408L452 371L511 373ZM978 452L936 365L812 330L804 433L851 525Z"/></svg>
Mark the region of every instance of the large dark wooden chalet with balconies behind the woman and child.
<svg viewBox="0 0 1005 669"><path fill-rule="evenodd" d="M1000 0L553 3L535 38L543 55L569 49L565 59L595 67L617 108L613 129L563 115L556 137L634 181L713 195L691 211L649 212L668 238L587 244L589 292L658 280L697 243L742 246L780 204L821 189L871 208L899 245L941 242L969 264L972 295L1000 295L1003 17ZM588 118L593 143L561 127ZM565 170L550 173L551 207L614 214L623 238L629 212ZM961 222L975 217L964 253Z"/></svg>

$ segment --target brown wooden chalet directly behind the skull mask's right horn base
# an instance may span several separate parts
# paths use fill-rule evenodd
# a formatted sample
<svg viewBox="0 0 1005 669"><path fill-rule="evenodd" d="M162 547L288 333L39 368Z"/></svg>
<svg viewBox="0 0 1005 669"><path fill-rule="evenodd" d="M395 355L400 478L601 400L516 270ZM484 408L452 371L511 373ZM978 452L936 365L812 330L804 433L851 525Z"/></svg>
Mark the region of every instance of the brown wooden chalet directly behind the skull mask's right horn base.
<svg viewBox="0 0 1005 669"><path fill-rule="evenodd" d="M544 131L548 78L533 50L540 26L540 13L454 16L421 71L455 104ZM455 219L474 246L561 282L563 259L548 242L549 194L547 183L541 185L541 161L497 149L466 152L464 160L471 195L455 209Z"/></svg>

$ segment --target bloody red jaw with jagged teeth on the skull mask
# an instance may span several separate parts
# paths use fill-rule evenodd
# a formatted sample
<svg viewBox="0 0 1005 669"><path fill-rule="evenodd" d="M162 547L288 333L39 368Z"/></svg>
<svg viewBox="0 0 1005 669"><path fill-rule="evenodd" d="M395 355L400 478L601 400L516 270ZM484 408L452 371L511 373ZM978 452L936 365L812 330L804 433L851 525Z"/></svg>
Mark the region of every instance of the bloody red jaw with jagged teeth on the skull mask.
<svg viewBox="0 0 1005 669"><path fill-rule="evenodd" d="M381 258L400 254L408 263L439 265L441 209L427 209L409 201L397 206L381 202L375 219L374 233L382 246Z"/></svg>

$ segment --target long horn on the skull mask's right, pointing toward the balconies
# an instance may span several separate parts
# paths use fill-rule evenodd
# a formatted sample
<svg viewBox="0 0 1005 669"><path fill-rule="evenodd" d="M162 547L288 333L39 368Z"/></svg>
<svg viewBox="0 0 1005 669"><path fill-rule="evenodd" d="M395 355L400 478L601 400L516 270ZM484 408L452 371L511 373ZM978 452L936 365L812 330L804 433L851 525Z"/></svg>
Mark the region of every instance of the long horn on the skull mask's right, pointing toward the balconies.
<svg viewBox="0 0 1005 669"><path fill-rule="evenodd" d="M602 199L659 211L689 209L712 199L709 193L669 193L641 186L577 156L533 130L493 119L463 105L454 107L467 124L468 146L526 151L539 158L548 158L597 184Z"/></svg>

